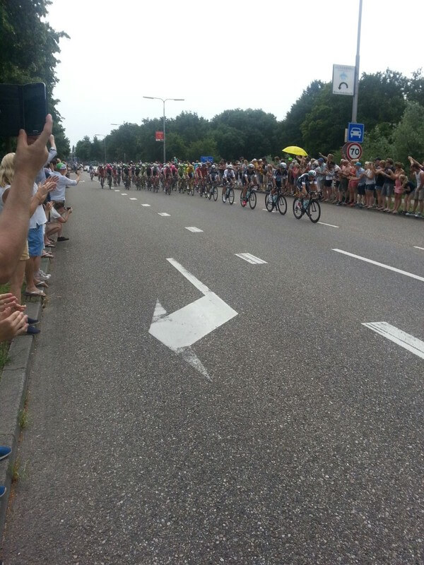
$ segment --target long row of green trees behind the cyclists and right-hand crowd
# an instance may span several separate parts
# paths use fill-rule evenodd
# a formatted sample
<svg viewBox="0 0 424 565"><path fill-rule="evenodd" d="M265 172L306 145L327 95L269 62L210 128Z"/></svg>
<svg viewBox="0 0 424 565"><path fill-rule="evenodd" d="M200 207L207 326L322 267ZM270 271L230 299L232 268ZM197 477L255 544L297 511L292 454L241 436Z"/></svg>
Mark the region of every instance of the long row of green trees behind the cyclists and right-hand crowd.
<svg viewBox="0 0 424 565"><path fill-rule="evenodd" d="M167 119L167 158L199 160L213 155L237 160L281 155L286 145L300 145L310 155L340 155L344 130L351 121L352 97L331 92L331 83L313 81L293 104L283 121L260 109L232 109L211 120L191 112ZM424 78L420 71L406 78L387 69L363 73L360 80L358 121L365 124L365 160L391 156L406 162L408 155L424 157ZM123 124L105 141L86 136L78 141L80 160L162 160L163 145L155 141L162 119L144 119L141 125Z"/></svg>

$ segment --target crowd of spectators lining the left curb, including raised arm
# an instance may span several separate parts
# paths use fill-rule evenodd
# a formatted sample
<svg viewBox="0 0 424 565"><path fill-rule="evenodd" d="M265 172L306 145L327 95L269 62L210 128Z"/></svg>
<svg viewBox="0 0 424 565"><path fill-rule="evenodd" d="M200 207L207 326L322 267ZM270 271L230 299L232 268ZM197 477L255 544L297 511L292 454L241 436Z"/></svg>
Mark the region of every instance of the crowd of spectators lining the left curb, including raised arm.
<svg viewBox="0 0 424 565"><path fill-rule="evenodd" d="M47 142L50 148L47 151ZM25 314L23 295L44 298L49 276L41 270L42 257L68 239L61 227L71 214L65 206L65 188L79 182L66 177L66 164L57 158L52 136L52 117L47 116L40 136L21 130L16 153L4 155L0 163L0 284L10 292L0 294L0 342L16 335L39 333L38 320ZM0 460L11 453L0 446ZM6 487L0 485L0 498Z"/></svg>

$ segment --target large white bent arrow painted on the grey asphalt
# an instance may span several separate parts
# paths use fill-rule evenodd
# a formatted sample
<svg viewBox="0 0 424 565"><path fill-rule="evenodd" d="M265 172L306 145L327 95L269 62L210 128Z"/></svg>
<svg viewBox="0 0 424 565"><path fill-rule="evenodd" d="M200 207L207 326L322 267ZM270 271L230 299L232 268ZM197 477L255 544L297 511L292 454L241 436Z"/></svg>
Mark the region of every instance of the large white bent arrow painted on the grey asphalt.
<svg viewBox="0 0 424 565"><path fill-rule="evenodd" d="M204 296L172 312L172 314L167 314L167 311L157 300L148 333L163 345L169 347L171 351L181 355L187 363L191 364L194 369L210 381L211 377L208 375L208 371L191 346L237 316L237 312L175 259L167 258L167 261L179 270Z"/></svg>

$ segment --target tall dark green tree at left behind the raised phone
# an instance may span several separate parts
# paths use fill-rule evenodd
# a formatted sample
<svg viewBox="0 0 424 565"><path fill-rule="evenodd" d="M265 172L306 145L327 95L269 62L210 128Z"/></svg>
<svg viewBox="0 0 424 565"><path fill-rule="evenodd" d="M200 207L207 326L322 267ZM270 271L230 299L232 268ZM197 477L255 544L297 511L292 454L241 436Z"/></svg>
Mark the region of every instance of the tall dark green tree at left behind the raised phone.
<svg viewBox="0 0 424 565"><path fill-rule="evenodd" d="M0 1L0 83L43 82L47 86L48 110L54 120L53 133L59 155L69 155L69 140L57 112L58 100L52 92L57 83L55 67L59 62L59 39L68 37L54 31L45 21L49 0ZM0 151L10 147L10 140L0 139Z"/></svg>

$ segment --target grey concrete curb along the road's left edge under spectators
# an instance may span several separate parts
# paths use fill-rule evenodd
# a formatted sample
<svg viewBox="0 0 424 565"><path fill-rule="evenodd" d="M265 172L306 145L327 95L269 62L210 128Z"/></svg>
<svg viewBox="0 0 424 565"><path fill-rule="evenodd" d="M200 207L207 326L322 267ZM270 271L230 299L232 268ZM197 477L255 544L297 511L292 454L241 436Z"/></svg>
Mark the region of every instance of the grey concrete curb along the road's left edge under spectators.
<svg viewBox="0 0 424 565"><path fill-rule="evenodd" d="M48 259L42 261L41 268L46 273L48 272ZM26 314L30 318L40 320L42 301L41 299L31 300L34 300L34 302L26 303ZM8 352L10 361L6 364L0 376L0 445L9 446L12 449L10 456L0 462L0 484L7 489L0 499L0 542L3 538L8 499L11 494L13 466L18 453L20 412L25 405L34 348L35 338L33 335L21 335L15 338Z"/></svg>

